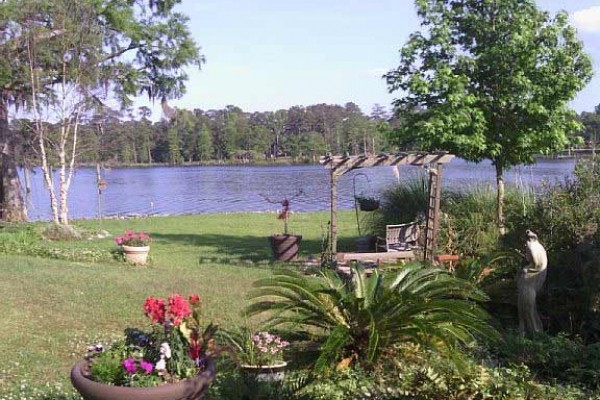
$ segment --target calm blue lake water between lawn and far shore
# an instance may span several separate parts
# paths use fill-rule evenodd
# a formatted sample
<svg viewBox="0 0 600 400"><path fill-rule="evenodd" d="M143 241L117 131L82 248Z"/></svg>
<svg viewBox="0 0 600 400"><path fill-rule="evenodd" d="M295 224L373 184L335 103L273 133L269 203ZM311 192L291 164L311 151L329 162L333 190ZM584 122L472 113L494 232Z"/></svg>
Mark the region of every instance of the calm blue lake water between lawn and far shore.
<svg viewBox="0 0 600 400"><path fill-rule="evenodd" d="M536 185L542 180L562 180L572 174L574 160L541 160L506 173L508 183ZM400 181L423 174L418 167L401 167ZM489 162L467 163L455 159L444 167L443 188L489 184L495 172ZM101 199L102 214L190 214L232 211L274 211L264 196L281 199L302 190L292 204L294 211L329 209L329 172L319 165L307 166L214 166L114 168L103 171L108 183ZM98 216L96 170L80 168L69 195L71 218ZM351 171L339 181L339 208L354 206L357 194L376 195L397 184L391 167ZM32 220L49 220L50 207L41 172L32 175L29 206Z"/></svg>

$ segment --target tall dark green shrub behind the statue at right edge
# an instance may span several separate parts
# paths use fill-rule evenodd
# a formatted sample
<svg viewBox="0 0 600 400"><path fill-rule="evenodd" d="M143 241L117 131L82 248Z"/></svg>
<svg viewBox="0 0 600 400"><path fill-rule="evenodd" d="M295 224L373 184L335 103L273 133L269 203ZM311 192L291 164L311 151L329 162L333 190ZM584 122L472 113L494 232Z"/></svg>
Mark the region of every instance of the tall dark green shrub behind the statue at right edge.
<svg viewBox="0 0 600 400"><path fill-rule="evenodd" d="M573 178L546 184L518 217L508 219L503 247L522 250L524 232L537 233L549 256L541 298L552 332L600 340L600 175L597 160L580 160ZM524 263L524 259L519 260Z"/></svg>

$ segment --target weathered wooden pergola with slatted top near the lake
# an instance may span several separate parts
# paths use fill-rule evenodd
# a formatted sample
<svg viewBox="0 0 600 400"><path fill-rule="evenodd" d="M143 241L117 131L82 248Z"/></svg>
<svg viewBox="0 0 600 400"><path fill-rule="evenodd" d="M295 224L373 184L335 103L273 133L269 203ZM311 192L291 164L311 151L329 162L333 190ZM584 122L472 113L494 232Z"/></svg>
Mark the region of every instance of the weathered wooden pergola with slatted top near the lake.
<svg viewBox="0 0 600 400"><path fill-rule="evenodd" d="M428 167L429 170L429 204L425 230L424 257L432 259L437 247L440 228L440 198L442 166L448 164L455 156L447 152L434 153L397 153L359 156L332 156L321 157L320 163L329 168L331 174L331 251L337 253L337 183L340 176L358 168L414 165Z"/></svg>

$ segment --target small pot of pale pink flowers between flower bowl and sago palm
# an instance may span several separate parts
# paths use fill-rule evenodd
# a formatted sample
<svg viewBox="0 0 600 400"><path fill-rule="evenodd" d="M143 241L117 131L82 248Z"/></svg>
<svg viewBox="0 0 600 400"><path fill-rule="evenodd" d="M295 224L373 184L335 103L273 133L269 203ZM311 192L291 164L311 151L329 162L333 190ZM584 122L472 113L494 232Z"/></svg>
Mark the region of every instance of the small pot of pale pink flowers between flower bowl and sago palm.
<svg viewBox="0 0 600 400"><path fill-rule="evenodd" d="M287 367L283 354L289 342L268 331L254 331L247 326L221 332L221 335L246 376L262 382L283 380Z"/></svg>

